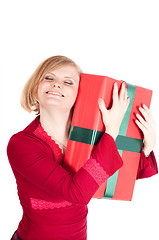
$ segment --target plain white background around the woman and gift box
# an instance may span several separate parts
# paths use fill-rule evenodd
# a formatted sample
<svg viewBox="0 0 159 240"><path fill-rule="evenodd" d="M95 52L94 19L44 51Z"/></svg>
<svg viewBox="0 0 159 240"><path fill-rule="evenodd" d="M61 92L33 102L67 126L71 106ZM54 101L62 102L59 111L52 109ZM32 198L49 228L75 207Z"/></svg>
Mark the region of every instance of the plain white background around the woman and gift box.
<svg viewBox="0 0 159 240"><path fill-rule="evenodd" d="M83 72L153 90L158 129L159 5L156 0L5 0L0 4L0 239L10 239L22 210L6 156L10 136L34 115L19 104L37 65L61 54ZM155 148L159 159L159 142ZM158 240L159 176L136 182L132 202L91 200L88 240Z"/></svg>

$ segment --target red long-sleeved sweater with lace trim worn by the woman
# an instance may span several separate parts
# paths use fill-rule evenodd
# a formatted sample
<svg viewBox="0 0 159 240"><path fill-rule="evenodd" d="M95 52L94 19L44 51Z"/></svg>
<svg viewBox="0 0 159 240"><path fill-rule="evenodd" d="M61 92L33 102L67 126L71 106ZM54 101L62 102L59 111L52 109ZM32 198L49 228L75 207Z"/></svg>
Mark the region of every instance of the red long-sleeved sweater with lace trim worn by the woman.
<svg viewBox="0 0 159 240"><path fill-rule="evenodd" d="M23 217L23 240L86 240L87 204L105 180L123 164L113 138L104 134L90 159L74 175L63 167L63 154L37 117L13 135L7 148ZM157 173L154 154L141 154L138 178Z"/></svg>

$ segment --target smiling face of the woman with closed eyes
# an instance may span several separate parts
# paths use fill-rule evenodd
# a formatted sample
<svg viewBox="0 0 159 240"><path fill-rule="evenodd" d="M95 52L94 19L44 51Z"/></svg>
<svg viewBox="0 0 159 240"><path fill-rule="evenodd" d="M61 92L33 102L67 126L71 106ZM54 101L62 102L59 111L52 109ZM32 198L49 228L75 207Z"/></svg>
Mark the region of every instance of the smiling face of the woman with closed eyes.
<svg viewBox="0 0 159 240"><path fill-rule="evenodd" d="M58 107L70 111L77 97L79 79L79 73L71 65L47 73L38 86L40 108Z"/></svg>

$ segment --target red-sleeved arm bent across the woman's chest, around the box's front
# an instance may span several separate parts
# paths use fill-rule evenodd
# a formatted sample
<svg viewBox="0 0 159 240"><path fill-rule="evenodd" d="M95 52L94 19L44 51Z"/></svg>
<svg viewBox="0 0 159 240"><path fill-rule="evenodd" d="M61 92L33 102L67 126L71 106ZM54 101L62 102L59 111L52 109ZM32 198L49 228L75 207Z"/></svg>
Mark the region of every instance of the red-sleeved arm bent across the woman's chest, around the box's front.
<svg viewBox="0 0 159 240"><path fill-rule="evenodd" d="M80 205L86 205L123 164L114 139L108 134L102 136L91 158L74 176L54 161L47 144L23 132L10 139L7 153L16 178L22 176L53 200L57 197Z"/></svg>

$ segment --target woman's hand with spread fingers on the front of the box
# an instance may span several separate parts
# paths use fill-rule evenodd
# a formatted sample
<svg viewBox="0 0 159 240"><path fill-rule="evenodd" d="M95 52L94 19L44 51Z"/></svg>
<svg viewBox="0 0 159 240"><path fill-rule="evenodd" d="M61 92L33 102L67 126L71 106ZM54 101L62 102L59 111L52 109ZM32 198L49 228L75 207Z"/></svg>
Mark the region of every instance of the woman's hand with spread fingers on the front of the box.
<svg viewBox="0 0 159 240"><path fill-rule="evenodd" d="M105 107L105 103L102 98L98 100L99 109L102 112L103 123L105 125L105 132L110 134L114 140L118 136L119 128L125 112L128 108L130 99L127 97L127 89L125 83L122 83L120 93L118 94L118 85L114 84L113 89L113 104L111 109Z"/></svg>

